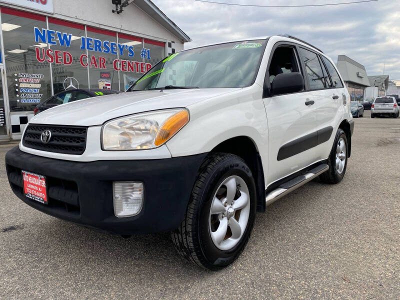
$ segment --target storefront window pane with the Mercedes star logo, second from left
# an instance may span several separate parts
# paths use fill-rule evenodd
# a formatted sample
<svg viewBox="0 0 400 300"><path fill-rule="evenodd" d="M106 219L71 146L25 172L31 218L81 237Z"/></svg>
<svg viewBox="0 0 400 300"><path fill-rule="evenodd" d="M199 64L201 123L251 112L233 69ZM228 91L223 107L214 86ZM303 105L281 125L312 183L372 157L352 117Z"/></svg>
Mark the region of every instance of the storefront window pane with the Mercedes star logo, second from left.
<svg viewBox="0 0 400 300"><path fill-rule="evenodd" d="M85 35L84 25L49 17L48 28L61 33L60 37L57 36L57 43L50 45L53 54L55 51L60 51L61 58L58 62L62 62L61 64L54 61L51 64L54 93L63 91L69 86L70 78L74 87L87 88L87 67L80 63L81 55L86 54L86 50L80 49L81 36Z"/></svg>

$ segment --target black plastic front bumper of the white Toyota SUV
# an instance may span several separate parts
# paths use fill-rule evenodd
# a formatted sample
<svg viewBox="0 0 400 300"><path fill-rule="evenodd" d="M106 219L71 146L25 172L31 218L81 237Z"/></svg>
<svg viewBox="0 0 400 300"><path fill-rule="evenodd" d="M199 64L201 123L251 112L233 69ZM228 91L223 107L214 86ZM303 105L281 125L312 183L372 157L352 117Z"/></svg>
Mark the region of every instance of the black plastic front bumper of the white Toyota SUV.
<svg viewBox="0 0 400 300"><path fill-rule="evenodd" d="M37 156L14 147L5 155L5 165L12 191L33 208L101 230L132 234L170 231L179 226L205 156L76 162ZM48 205L24 196L21 170L46 177ZM139 214L124 218L114 215L113 181L144 183Z"/></svg>

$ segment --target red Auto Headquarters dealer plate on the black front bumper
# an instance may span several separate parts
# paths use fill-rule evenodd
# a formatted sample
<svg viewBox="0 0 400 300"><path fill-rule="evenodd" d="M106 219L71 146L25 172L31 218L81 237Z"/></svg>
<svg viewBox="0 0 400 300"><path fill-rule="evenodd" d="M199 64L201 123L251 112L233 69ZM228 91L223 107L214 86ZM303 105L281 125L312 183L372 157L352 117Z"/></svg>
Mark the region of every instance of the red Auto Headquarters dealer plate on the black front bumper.
<svg viewBox="0 0 400 300"><path fill-rule="evenodd" d="M29 199L48 204L46 178L42 175L22 171L23 193Z"/></svg>

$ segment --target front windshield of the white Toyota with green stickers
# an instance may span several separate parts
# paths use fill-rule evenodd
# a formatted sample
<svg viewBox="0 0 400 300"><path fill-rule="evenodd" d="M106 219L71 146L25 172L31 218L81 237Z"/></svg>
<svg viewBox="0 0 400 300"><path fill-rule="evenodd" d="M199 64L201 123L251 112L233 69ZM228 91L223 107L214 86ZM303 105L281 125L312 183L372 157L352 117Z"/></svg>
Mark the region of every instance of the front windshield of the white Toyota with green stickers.
<svg viewBox="0 0 400 300"><path fill-rule="evenodd" d="M264 39L239 41L172 54L127 91L249 86L255 80L265 44Z"/></svg>

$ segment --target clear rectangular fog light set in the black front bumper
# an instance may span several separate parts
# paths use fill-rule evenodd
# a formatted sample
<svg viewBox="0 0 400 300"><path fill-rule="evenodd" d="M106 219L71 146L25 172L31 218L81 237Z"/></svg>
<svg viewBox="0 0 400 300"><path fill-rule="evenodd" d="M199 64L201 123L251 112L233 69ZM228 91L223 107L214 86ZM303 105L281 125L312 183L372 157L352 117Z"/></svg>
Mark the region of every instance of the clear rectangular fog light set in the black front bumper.
<svg viewBox="0 0 400 300"><path fill-rule="evenodd" d="M143 183L113 182L114 213L117 217L136 215L143 206Z"/></svg>

